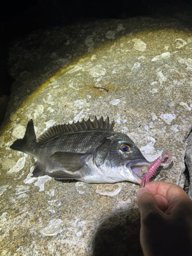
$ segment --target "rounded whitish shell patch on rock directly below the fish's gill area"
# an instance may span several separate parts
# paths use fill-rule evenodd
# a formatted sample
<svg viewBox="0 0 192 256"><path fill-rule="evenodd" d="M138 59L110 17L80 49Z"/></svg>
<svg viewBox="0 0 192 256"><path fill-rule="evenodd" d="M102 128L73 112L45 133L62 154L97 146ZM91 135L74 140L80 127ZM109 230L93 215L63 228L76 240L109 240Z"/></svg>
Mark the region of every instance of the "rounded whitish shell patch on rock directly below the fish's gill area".
<svg viewBox="0 0 192 256"><path fill-rule="evenodd" d="M99 184L96 189L96 193L102 196L116 196L121 191L122 184L121 183L103 183Z"/></svg>

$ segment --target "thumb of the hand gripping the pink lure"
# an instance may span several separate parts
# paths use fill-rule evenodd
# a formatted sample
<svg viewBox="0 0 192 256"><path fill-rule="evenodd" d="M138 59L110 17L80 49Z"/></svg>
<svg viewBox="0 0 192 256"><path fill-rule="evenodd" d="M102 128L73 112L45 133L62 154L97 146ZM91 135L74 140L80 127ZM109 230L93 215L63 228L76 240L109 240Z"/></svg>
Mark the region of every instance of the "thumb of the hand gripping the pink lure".
<svg viewBox="0 0 192 256"><path fill-rule="evenodd" d="M137 204L141 214L141 218L147 217L150 212L160 212L157 201L150 190L140 188L137 192Z"/></svg>

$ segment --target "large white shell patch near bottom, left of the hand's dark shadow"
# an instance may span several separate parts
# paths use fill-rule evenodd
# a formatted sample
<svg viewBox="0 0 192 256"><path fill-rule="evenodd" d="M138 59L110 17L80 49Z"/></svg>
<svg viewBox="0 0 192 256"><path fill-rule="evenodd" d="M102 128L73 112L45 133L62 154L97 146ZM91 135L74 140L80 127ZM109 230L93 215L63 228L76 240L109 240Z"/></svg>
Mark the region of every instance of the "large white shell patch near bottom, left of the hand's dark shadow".
<svg viewBox="0 0 192 256"><path fill-rule="evenodd" d="M40 230L40 233L44 236L56 236L56 234L61 233L62 229L60 228L60 225L63 221L61 219L52 220L49 222L47 227L42 228Z"/></svg>

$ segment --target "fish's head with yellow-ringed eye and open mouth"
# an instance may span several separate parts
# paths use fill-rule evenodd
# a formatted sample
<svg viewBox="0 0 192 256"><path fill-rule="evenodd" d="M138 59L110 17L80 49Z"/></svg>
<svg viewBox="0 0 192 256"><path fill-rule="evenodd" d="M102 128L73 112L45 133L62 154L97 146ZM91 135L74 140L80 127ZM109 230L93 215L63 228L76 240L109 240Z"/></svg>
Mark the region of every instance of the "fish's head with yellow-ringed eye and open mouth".
<svg viewBox="0 0 192 256"><path fill-rule="evenodd" d="M115 137L111 138L110 144L105 144L108 146L108 150L105 148L103 161L105 175L114 179L116 177L117 181L121 178L121 180L140 184L151 163L144 158L139 148L128 136L118 133Z"/></svg>

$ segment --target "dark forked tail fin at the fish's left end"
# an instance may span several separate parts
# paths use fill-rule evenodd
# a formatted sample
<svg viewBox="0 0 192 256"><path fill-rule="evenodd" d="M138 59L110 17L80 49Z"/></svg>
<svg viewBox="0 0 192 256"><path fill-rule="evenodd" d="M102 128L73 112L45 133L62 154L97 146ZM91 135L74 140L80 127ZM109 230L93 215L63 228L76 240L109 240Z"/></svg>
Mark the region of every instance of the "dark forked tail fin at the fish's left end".
<svg viewBox="0 0 192 256"><path fill-rule="evenodd" d="M33 125L33 120L31 119L27 124L24 138L15 140L13 144L10 146L10 148L12 150L27 153L30 143L35 141L36 141L36 135L35 135L34 125Z"/></svg>

